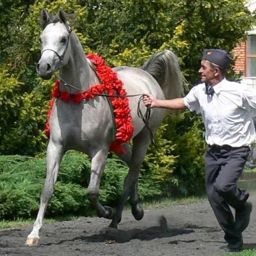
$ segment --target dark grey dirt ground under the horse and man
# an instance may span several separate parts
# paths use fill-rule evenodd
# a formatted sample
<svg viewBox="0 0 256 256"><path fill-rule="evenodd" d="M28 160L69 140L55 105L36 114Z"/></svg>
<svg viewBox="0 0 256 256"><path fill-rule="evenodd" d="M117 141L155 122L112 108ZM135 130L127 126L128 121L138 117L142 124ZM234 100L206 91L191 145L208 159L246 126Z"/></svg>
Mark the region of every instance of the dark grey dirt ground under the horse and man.
<svg viewBox="0 0 256 256"><path fill-rule="evenodd" d="M244 248L256 248L256 194L251 221L244 231ZM219 256L225 252L223 232L208 201L146 209L134 220L124 211L118 230L110 220L78 218L44 224L41 244L26 246L32 226L0 231L1 256Z"/></svg>

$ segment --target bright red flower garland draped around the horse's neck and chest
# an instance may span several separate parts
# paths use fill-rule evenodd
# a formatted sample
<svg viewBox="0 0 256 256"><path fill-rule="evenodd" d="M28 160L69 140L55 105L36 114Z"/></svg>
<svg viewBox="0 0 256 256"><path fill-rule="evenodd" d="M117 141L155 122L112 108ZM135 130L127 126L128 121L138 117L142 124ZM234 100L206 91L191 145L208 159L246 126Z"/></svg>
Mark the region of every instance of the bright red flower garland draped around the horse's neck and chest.
<svg viewBox="0 0 256 256"><path fill-rule="evenodd" d="M90 100L97 95L106 92L108 95L126 95L126 91L123 89L123 82L118 79L116 72L109 66L106 66L104 58L97 54L88 54L86 56L92 62L94 62L97 74L102 80L103 84L96 84L92 86L86 92L77 92L76 94L70 94L67 91L60 91L60 80L57 80L52 91L54 98L60 98L65 102L73 101L77 104L83 100ZM95 93L95 94L93 94ZM131 140L134 126L132 124L132 117L130 116L129 99L125 97L110 97L112 106L114 108L114 116L116 121L116 140L112 142L110 151L116 153L125 153L122 143ZM52 112L54 99L50 101L50 110L48 111L48 121L46 123L46 134L50 135L49 118Z"/></svg>

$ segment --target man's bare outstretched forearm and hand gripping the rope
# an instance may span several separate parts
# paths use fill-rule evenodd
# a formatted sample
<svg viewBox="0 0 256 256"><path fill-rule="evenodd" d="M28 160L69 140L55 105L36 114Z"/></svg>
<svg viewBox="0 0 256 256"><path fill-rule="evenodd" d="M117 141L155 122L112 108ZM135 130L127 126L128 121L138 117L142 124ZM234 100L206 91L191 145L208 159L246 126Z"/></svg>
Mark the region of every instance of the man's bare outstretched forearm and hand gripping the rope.
<svg viewBox="0 0 256 256"><path fill-rule="evenodd" d="M146 107L150 108L168 108L174 110L186 109L183 98L176 98L172 100L158 100L151 94L144 94L143 102Z"/></svg>

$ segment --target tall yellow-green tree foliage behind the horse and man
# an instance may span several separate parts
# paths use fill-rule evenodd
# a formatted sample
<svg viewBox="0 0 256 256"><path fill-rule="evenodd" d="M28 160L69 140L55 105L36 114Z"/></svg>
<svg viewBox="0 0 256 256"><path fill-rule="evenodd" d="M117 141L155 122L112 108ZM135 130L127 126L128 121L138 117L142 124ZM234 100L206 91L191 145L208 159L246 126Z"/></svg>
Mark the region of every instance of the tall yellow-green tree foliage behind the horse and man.
<svg viewBox="0 0 256 256"><path fill-rule="evenodd" d="M0 154L35 156L46 149L44 124L58 74L49 81L36 75L42 8L53 14L59 8L75 14L69 22L85 53L96 52L111 66L139 67L154 52L170 48L178 56L189 84L199 79L204 48L231 52L255 24L244 0L1 1ZM166 189L180 184L186 194L193 190L186 182L191 184L201 168L203 140L197 138L203 128L198 117L192 122L187 114L172 118L166 118L156 135L161 148L150 148L141 179L153 175L157 186L170 180ZM170 130L172 133L168 133Z"/></svg>

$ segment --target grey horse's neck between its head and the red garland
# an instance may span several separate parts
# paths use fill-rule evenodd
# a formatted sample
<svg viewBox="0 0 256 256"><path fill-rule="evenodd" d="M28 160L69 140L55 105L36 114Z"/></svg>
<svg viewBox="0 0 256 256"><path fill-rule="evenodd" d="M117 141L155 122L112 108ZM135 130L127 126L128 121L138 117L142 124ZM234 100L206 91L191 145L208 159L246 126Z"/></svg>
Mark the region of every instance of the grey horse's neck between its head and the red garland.
<svg viewBox="0 0 256 256"><path fill-rule="evenodd" d="M99 80L95 72L90 68L90 63L85 56L82 44L74 32L70 34L69 40L70 58L68 64L61 68L60 78L71 86L62 84L60 89L70 93L85 92L92 85L98 84Z"/></svg>

